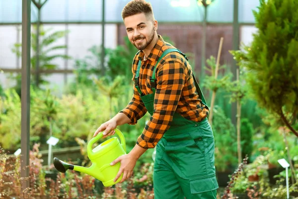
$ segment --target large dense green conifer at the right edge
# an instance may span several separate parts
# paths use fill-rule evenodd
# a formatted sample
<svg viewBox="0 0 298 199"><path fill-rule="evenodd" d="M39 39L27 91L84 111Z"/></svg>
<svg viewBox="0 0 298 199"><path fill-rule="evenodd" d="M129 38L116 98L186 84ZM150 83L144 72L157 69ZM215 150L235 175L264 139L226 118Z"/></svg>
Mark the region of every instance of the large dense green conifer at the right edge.
<svg viewBox="0 0 298 199"><path fill-rule="evenodd" d="M244 67L251 94L269 113L279 115L294 132L298 119L298 2L260 0L254 11L257 33L243 51L231 51Z"/></svg>

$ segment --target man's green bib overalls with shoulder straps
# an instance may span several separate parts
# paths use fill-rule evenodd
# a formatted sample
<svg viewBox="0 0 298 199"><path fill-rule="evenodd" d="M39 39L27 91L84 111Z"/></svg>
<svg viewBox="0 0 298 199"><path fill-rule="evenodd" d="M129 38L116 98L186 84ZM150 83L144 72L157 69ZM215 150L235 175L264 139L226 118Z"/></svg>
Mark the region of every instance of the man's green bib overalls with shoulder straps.
<svg viewBox="0 0 298 199"><path fill-rule="evenodd" d="M169 52L181 53L178 49L167 49L163 52L150 80L153 94L144 95L139 88L141 61L138 63L135 86L151 115L153 115L156 88L156 66ZM183 53L181 54L185 57ZM193 78L200 99L206 105L202 91L194 76ZM213 131L207 118L195 122L175 112L170 128L156 146L153 172L154 199L184 199L184 197L216 199L218 183L215 175L214 150Z"/></svg>

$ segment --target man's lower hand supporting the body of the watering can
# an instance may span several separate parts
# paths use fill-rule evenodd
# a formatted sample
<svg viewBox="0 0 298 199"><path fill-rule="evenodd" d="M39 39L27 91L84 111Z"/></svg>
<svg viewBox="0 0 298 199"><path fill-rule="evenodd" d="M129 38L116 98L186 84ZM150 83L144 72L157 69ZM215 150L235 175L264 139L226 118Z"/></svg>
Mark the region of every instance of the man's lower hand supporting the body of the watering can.
<svg viewBox="0 0 298 199"><path fill-rule="evenodd" d="M114 160L110 165L115 165L116 163L120 162L121 166L117 176L114 179L116 182L121 174L123 173L123 177L119 183L123 183L125 180L129 179L133 174L134 167L136 166L137 158L132 157L130 154L122 155L116 160Z"/></svg>

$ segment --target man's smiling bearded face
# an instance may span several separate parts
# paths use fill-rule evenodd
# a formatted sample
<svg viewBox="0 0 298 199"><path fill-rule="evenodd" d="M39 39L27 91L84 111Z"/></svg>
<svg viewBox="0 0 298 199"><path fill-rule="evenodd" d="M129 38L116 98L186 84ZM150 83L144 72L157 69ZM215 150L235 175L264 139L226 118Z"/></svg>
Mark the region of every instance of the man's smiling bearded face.
<svg viewBox="0 0 298 199"><path fill-rule="evenodd" d="M157 22L149 18L144 13L124 18L128 38L139 50L144 50L154 38L154 27L157 27Z"/></svg>

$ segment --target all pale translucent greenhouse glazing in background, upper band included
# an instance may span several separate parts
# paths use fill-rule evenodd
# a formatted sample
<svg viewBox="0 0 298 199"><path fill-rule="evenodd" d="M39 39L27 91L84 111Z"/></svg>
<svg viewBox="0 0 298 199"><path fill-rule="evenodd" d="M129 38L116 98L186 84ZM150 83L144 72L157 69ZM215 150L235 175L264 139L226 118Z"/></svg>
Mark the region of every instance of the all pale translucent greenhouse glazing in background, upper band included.
<svg viewBox="0 0 298 199"><path fill-rule="evenodd" d="M44 0L42 0L43 2ZM121 10L129 0L105 1L105 46L115 48L118 44L117 26L122 24ZM177 0L149 0L153 6L155 18L162 23L176 22L193 23L203 19L203 7L197 5L196 0L180 0L182 6L176 6ZM178 2L178 3L179 3ZM239 0L240 43L248 44L252 40L253 9L257 9L259 0ZM0 68L17 69L21 67L20 58L12 52L15 43L21 42L21 0L0 0ZM38 10L34 3L31 5L32 22L37 19ZM46 22L44 28L55 30L69 30L68 38L58 40L55 45L65 45L68 41L68 55L71 60L61 58L53 61L58 69L73 69L75 60L89 55L88 49L93 45L101 45L101 0L48 0L42 7L41 21ZM232 25L233 0L215 0L208 8L209 23L224 23ZM66 25L65 22L72 22ZM81 22L81 23L80 23ZM84 23L85 22L85 23ZM93 24L87 23L93 22ZM160 25L162 25L162 23ZM159 26L160 26L159 25ZM198 23L198 25L200 25ZM230 35L232 36L232 35ZM200 36L198 35L198 38ZM207 46L209 41L207 41ZM217 49L215 50L217 52ZM56 51L65 54L65 50ZM196 52L193 52L196 53ZM31 53L32 54L32 53ZM51 86L63 85L64 74L53 74L47 77ZM68 80L73 74L67 74ZM6 74L0 74L0 84L10 87L13 81L7 79Z"/></svg>

